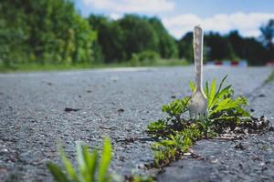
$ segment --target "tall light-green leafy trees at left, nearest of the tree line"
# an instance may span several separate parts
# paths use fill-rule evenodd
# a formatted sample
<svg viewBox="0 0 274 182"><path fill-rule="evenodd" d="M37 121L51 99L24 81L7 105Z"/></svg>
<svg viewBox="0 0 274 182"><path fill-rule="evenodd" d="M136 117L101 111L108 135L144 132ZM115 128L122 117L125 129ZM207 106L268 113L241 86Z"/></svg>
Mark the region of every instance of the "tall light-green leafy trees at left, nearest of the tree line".
<svg viewBox="0 0 274 182"><path fill-rule="evenodd" d="M90 64L95 38L71 1L5 0L0 4L0 63L5 66Z"/></svg>

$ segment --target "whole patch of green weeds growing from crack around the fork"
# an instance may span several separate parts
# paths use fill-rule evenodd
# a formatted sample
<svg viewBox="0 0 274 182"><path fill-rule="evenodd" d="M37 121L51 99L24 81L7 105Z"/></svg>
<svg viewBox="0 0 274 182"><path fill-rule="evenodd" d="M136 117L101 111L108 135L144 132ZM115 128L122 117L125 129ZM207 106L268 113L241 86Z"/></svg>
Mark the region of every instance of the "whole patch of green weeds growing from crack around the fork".
<svg viewBox="0 0 274 182"><path fill-rule="evenodd" d="M202 137L213 137L227 133L237 133L267 128L269 122L258 120L250 116L246 107L247 99L244 96L234 96L231 85L223 87L227 76L219 86L216 79L209 84L205 82L205 96L208 102L208 116L203 119L192 120L184 118L183 114L188 111L190 96L176 99L162 110L167 116L152 122L147 126L147 132L158 138L152 146L154 154L154 166L163 167L170 162L181 158L185 151L191 147L196 140ZM195 92L194 82L190 82L190 88ZM256 124L256 125L255 125Z"/></svg>

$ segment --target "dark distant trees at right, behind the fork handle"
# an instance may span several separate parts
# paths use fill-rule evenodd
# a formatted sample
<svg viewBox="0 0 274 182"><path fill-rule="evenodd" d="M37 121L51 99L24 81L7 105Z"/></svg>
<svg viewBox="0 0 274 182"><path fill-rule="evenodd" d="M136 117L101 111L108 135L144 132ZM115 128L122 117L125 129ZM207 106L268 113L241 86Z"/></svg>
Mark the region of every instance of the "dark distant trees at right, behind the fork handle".
<svg viewBox="0 0 274 182"><path fill-rule="evenodd" d="M266 27L267 26L267 27ZM270 25L261 26L261 30L266 29L271 32ZM268 33L269 37L270 33ZM262 32L262 37L264 37ZM261 66L267 61L272 60L274 51L271 51L267 45L268 41L262 38L259 41L255 37L243 37L238 34L237 30L231 31L228 35L219 35L217 33L207 33L204 38L204 60L248 60L248 65ZM193 56L193 34L192 32L186 33L181 39L177 41L179 57L187 60L194 60ZM273 43L272 43L273 45Z"/></svg>

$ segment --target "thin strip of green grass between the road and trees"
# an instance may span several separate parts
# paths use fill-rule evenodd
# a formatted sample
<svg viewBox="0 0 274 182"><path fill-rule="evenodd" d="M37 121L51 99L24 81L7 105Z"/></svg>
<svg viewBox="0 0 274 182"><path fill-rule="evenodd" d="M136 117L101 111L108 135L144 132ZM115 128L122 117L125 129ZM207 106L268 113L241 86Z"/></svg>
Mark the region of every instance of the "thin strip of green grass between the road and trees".
<svg viewBox="0 0 274 182"><path fill-rule="evenodd" d="M189 63L186 60L179 59L157 59L153 63L137 63L131 62L111 63L111 64L78 64L78 65L54 65L54 64L21 64L16 66L0 65L0 72L36 72L36 71L56 71L56 70L76 70L76 69L90 69L90 68L112 68L112 67L134 67L134 66L187 66Z"/></svg>

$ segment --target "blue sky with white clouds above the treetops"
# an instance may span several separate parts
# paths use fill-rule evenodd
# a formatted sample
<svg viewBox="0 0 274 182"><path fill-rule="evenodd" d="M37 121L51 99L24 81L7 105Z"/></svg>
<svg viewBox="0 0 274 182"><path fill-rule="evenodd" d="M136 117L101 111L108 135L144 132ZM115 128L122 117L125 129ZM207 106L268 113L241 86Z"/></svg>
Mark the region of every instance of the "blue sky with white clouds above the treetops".
<svg viewBox="0 0 274 182"><path fill-rule="evenodd" d="M240 35L260 35L259 26L274 19L274 0L75 0L81 15L107 15L119 19L124 14L159 17L175 38L202 25L206 31Z"/></svg>

